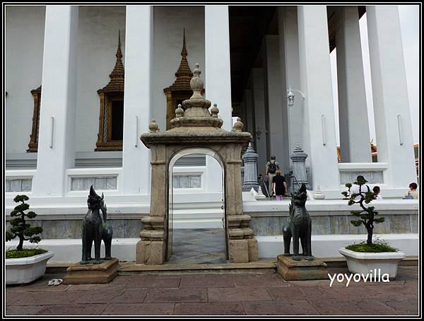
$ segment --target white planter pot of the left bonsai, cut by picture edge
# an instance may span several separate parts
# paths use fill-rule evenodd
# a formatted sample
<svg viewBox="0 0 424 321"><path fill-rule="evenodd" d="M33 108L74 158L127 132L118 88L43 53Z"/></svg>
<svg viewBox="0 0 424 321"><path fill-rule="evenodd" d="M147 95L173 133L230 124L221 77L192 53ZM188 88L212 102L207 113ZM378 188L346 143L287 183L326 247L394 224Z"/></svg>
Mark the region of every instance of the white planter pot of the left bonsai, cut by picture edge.
<svg viewBox="0 0 424 321"><path fill-rule="evenodd" d="M33 257L6 259L6 284L25 284L40 278L45 274L47 261L53 255L48 251Z"/></svg>

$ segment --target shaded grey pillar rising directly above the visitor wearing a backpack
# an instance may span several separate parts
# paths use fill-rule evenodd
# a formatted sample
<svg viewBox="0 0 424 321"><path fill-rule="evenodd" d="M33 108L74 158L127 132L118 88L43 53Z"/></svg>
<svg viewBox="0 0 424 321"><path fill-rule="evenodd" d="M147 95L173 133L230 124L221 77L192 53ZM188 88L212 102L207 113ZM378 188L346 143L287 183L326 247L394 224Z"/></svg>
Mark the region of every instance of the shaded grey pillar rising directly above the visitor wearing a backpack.
<svg viewBox="0 0 424 321"><path fill-rule="evenodd" d="M278 35L266 35L266 86L268 88L269 134L271 155L275 155L281 170L288 161L287 104L282 88ZM285 86L283 86L285 88ZM285 90L284 90L285 91Z"/></svg>

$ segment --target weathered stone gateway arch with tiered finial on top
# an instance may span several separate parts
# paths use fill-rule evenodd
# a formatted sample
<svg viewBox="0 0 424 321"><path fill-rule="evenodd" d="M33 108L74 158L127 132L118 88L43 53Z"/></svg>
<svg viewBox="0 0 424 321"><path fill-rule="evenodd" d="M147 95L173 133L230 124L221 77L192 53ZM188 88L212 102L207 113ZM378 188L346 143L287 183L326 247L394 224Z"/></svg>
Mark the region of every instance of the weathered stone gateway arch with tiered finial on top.
<svg viewBox="0 0 424 321"><path fill-rule="evenodd" d="M258 246L254 233L249 228L250 216L243 214L241 151L252 139L248 132L242 132L240 119L231 132L221 129L223 120L218 117L218 107L201 91L204 82L200 78L199 64L193 71L190 86L193 95L184 100L175 110L172 128L160 132L152 120L150 132L140 139L151 149L151 207L150 215L141 218L143 230L136 247L136 263L163 264L172 252L172 231L168 228L170 214L170 164L172 158L186 149L207 149L220 160L224 171L225 190L225 235L227 258L230 262L247 263L257 261Z"/></svg>

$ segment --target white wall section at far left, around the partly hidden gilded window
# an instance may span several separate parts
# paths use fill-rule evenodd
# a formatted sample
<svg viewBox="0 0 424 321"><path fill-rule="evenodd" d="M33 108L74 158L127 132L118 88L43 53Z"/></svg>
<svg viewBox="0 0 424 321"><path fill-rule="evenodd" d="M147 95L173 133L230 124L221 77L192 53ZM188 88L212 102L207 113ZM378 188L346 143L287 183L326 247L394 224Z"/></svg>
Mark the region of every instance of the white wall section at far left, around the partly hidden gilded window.
<svg viewBox="0 0 424 321"><path fill-rule="evenodd" d="M45 6L6 6L6 153L25 153L41 86Z"/></svg>

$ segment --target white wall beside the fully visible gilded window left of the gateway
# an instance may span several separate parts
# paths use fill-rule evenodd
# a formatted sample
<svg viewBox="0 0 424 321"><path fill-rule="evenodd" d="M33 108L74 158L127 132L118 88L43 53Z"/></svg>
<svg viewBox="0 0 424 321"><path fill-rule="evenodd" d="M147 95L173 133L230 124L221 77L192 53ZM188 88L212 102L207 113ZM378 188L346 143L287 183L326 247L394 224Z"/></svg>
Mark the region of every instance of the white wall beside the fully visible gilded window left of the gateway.
<svg viewBox="0 0 424 321"><path fill-rule="evenodd" d="M121 30L121 50L125 57L125 6L80 6L76 152L94 151L100 113L97 91L110 81L109 74L117 60L118 30Z"/></svg>

